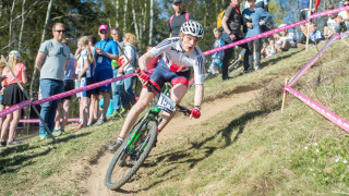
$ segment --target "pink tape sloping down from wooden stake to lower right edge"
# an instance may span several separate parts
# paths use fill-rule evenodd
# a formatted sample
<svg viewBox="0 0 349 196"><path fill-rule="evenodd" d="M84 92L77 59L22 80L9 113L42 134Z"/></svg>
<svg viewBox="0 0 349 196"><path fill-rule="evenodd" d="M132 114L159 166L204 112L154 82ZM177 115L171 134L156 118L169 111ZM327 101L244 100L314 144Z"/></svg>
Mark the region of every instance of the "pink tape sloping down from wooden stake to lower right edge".
<svg viewBox="0 0 349 196"><path fill-rule="evenodd" d="M311 107L313 110L317 111L320 114L322 114L324 118L328 119L330 122L336 124L337 126L341 127L346 132L349 133L349 123L341 119L340 117L336 115L334 112L329 111L322 105L313 101L312 99L308 98L306 96L302 95L301 93L294 90L288 85L285 85L285 89L289 91L290 94L294 95L297 98L299 98L301 101L303 101L305 105Z"/></svg>

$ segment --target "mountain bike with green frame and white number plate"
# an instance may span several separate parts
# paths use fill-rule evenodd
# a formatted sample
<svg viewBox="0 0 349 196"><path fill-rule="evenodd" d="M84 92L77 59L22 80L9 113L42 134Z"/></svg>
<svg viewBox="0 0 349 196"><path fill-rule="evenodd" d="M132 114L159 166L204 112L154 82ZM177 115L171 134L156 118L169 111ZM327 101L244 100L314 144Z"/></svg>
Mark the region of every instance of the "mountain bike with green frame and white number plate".
<svg viewBox="0 0 349 196"><path fill-rule="evenodd" d="M118 189L125 184L132 175L141 168L146 157L157 140L157 126L161 122L159 113L161 110L169 113L176 110L190 114L185 107L177 105L168 95L170 85L166 85L165 93L160 93L153 84L147 86L149 91L160 94L157 105L147 110L146 114L130 130L122 145L116 151L108 167L105 185L110 189Z"/></svg>

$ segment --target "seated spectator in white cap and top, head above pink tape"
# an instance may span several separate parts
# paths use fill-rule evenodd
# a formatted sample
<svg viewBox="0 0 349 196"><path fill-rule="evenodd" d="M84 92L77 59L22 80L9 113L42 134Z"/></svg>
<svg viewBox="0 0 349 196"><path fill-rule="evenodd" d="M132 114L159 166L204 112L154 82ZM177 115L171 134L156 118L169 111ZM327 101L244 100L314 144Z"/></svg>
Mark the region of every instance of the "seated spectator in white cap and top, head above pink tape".
<svg viewBox="0 0 349 196"><path fill-rule="evenodd" d="M286 26L286 24L280 24L278 27L281 28ZM280 36L278 34L274 34L275 49L277 52L288 51L291 47L297 46L297 38L293 33L289 33L288 29L281 30Z"/></svg>

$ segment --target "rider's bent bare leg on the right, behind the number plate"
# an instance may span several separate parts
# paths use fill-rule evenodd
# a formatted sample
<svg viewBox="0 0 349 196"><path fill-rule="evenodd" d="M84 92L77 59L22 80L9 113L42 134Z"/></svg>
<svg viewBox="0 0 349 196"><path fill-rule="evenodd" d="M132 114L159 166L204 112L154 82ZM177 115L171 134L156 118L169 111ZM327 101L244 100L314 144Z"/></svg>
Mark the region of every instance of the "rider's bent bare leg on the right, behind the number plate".
<svg viewBox="0 0 349 196"><path fill-rule="evenodd" d="M171 99L176 102L176 103L180 103L182 98L184 97L185 93L186 93L186 86L183 84L177 84L172 87L171 90ZM176 112L173 112L172 114L168 113L168 112L163 112L161 118L163 121L158 126L158 131L161 131L167 123L172 119L172 117L174 115Z"/></svg>

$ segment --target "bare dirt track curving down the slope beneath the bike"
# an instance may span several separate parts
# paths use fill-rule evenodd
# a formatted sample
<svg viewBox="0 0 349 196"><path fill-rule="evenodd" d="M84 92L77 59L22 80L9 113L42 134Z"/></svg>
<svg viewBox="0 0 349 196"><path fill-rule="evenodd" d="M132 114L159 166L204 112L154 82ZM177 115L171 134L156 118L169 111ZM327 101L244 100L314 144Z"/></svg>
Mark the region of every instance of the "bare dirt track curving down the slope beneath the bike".
<svg viewBox="0 0 349 196"><path fill-rule="evenodd" d="M255 97L255 93L256 90L251 87L246 87L244 89L236 88L231 90L230 96L225 96L224 98L215 99L215 101L204 102L202 106L202 117L198 120L189 120L186 117L183 115L173 118L172 121L168 124L168 126L161 132L158 140L160 142L165 139L167 140L171 138L178 138L181 136L181 133L184 132L185 127L188 127L189 125L200 124L204 121L212 119L212 117L215 117L217 113L229 110L231 107L236 105L245 103ZM165 145L165 143L158 143L158 147L154 148L152 150L152 154L156 152L157 149L160 149L161 145ZM104 185L105 173L107 171L111 158L112 155L106 151L99 157L95 164L88 166L87 169L85 168L85 170L88 171L89 176L86 179L86 181L83 181L80 184L80 187L83 189L83 194L91 196L123 195L135 193L146 195L146 192L139 192L139 189L141 189L141 184L137 182L137 180L134 180L132 181L132 183L127 183L125 185L123 185L122 192L109 191ZM139 170L137 172L140 173L143 171Z"/></svg>

